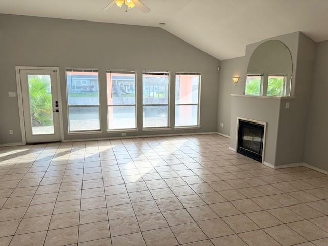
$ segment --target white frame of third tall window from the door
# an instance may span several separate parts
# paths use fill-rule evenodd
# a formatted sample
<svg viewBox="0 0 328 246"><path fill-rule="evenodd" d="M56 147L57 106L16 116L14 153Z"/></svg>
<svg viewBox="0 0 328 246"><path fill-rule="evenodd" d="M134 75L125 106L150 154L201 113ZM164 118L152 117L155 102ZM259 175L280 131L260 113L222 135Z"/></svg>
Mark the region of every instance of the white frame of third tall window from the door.
<svg viewBox="0 0 328 246"><path fill-rule="evenodd" d="M144 74L158 74L158 75L167 75L169 79L168 83L168 103L167 104L145 104L144 103ZM170 105L171 105L171 72L170 71L152 71L152 70L144 70L142 71L142 131L154 131L154 130L170 130ZM167 106L168 107L168 120L167 126L160 127L145 127L145 106Z"/></svg>

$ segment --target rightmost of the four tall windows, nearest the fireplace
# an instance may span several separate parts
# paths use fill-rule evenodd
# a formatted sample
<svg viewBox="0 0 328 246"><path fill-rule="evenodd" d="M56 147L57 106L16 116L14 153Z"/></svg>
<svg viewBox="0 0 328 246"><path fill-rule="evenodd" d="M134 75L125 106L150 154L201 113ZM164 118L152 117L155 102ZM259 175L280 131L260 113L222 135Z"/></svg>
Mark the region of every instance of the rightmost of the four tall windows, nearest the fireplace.
<svg viewBox="0 0 328 246"><path fill-rule="evenodd" d="M175 75L175 126L199 125L199 73Z"/></svg>

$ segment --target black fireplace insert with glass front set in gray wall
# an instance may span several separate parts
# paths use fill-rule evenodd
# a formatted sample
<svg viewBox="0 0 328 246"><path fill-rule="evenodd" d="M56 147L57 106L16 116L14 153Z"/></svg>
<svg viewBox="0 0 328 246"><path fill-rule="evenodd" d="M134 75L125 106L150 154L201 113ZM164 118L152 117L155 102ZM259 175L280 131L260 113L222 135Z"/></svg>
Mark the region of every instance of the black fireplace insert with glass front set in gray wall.
<svg viewBox="0 0 328 246"><path fill-rule="evenodd" d="M239 119L237 152L262 162L264 125Z"/></svg>

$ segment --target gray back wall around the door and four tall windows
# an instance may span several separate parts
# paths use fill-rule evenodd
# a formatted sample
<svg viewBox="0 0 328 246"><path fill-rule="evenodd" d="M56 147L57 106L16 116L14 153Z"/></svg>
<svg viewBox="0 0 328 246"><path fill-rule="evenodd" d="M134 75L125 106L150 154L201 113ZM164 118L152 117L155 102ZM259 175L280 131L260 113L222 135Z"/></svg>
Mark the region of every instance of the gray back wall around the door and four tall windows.
<svg viewBox="0 0 328 246"><path fill-rule="evenodd" d="M62 105L66 105L65 68L98 68L101 105L106 105L106 69L137 70L139 129L142 124L142 71L171 72L171 126L174 124L174 74L176 71L201 72L201 129L135 132L132 135L216 132L220 61L183 42L161 28L141 27L77 20L0 14L0 144L20 142L15 66L60 67ZM104 134L67 135L67 110L63 107L64 138L104 138L107 109L101 107ZM9 135L8 130L14 134Z"/></svg>

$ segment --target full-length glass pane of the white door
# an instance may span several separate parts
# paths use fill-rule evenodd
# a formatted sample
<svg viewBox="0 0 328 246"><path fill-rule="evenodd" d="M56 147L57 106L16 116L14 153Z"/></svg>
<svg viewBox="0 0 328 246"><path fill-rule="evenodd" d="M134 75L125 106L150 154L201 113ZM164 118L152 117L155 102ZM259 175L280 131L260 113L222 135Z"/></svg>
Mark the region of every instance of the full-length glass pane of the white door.
<svg viewBox="0 0 328 246"><path fill-rule="evenodd" d="M54 134L50 75L29 74L28 88L32 134Z"/></svg>

